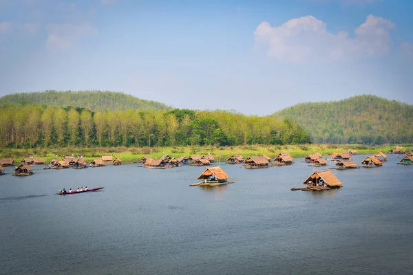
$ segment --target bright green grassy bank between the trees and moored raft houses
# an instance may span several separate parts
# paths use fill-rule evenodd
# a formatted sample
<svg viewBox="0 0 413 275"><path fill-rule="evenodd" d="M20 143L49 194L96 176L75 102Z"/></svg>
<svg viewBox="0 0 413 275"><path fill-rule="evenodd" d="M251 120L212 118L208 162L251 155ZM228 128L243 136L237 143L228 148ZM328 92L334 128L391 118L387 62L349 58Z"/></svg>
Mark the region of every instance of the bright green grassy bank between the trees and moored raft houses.
<svg viewBox="0 0 413 275"><path fill-rule="evenodd" d="M403 149L409 151L412 144L404 144ZM184 147L109 147L109 148L30 148L30 149L15 149L1 148L0 158L12 158L19 162L23 157L32 155L33 157L43 157L45 162L49 162L52 157L61 159L64 155L82 155L87 160L100 158L102 155L112 155L120 157L123 162L133 162L140 159L144 155L149 155L153 158L161 157L162 155L171 155L172 157L189 156L189 155L207 155L211 154L215 159L221 158L225 160L231 155L243 155L250 157L254 155L266 154L268 157L275 157L279 153L287 152L293 157L305 157L308 154L319 152L324 157L332 155L335 152L343 152L344 150L355 149L359 154L374 154L377 151L387 153L390 146L365 146L365 145L337 145L337 144L301 144L301 145L246 145L246 146L184 146ZM221 156L222 155L222 156Z"/></svg>

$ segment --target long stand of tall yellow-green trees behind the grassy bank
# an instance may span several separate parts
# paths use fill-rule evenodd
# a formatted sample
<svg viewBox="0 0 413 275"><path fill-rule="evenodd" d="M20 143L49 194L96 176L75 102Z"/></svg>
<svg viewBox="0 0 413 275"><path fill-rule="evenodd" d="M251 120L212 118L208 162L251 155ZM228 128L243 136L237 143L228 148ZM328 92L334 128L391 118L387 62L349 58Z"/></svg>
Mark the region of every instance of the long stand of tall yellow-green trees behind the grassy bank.
<svg viewBox="0 0 413 275"><path fill-rule="evenodd" d="M292 120L229 111L90 111L0 104L0 146L218 146L301 144L310 136Z"/></svg>

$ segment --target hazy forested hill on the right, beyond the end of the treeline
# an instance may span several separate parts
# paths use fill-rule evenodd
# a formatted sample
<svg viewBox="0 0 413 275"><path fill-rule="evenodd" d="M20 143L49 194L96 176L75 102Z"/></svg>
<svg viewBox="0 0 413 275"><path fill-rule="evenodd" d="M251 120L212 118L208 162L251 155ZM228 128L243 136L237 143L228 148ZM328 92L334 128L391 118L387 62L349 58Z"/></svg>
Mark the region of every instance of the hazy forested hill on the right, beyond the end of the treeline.
<svg viewBox="0 0 413 275"><path fill-rule="evenodd" d="M384 144L413 142L413 105L377 96L296 104L273 113L304 127L313 142Z"/></svg>

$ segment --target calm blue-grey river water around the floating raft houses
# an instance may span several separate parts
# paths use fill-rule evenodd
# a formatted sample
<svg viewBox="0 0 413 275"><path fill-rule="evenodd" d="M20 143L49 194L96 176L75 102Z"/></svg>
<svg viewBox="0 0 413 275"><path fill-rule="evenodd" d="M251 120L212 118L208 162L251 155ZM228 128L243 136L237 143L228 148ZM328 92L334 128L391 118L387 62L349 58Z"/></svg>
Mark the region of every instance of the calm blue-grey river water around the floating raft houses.
<svg viewBox="0 0 413 275"><path fill-rule="evenodd" d="M412 274L413 166L388 157L324 192L290 190L302 158L222 164L235 184L213 188L189 186L204 167L32 166L0 176L0 274ZM80 186L105 189L54 195Z"/></svg>

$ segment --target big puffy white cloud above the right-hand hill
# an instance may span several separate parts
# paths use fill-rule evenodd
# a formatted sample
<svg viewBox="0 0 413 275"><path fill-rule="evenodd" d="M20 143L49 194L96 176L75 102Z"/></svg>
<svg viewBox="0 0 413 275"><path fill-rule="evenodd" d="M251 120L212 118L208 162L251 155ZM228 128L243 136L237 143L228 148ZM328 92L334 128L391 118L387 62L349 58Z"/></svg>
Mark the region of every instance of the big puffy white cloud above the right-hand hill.
<svg viewBox="0 0 413 275"><path fill-rule="evenodd" d="M342 58L379 56L390 50L389 30L394 23L369 15L366 22L354 30L332 34L326 23L309 15L291 19L280 27L268 22L257 26L254 36L257 45L268 48L268 56L286 61L334 61Z"/></svg>

